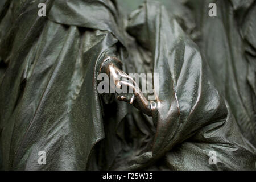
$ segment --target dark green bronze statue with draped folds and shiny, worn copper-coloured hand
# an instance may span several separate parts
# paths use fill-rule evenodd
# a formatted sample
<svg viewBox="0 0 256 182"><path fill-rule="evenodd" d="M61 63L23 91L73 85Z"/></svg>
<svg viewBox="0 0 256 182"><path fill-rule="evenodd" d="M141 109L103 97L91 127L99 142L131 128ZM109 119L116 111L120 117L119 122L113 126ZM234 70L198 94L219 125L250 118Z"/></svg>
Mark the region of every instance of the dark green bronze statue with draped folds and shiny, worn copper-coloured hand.
<svg viewBox="0 0 256 182"><path fill-rule="evenodd" d="M1 169L255 170L255 1L170 3L1 1ZM99 94L111 70L159 94Z"/></svg>

